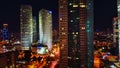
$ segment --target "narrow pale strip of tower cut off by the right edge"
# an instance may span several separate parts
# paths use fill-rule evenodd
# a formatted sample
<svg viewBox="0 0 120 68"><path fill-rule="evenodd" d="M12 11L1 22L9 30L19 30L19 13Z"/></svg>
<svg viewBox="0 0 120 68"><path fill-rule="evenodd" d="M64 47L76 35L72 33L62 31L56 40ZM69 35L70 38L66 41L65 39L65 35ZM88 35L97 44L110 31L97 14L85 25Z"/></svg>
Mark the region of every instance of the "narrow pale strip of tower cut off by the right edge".
<svg viewBox="0 0 120 68"><path fill-rule="evenodd" d="M118 11L118 30L120 30L120 1L117 0L117 11ZM120 61L120 31L118 37L118 45L119 45L119 61Z"/></svg>

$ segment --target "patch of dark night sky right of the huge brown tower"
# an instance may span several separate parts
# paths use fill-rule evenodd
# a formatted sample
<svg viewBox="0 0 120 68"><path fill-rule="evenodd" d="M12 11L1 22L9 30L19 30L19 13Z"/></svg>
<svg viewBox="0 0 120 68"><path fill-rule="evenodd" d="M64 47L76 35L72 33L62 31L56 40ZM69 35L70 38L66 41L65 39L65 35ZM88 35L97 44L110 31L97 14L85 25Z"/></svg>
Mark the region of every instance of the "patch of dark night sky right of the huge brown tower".
<svg viewBox="0 0 120 68"><path fill-rule="evenodd" d="M95 30L112 30L113 17L117 16L117 0L94 0Z"/></svg>

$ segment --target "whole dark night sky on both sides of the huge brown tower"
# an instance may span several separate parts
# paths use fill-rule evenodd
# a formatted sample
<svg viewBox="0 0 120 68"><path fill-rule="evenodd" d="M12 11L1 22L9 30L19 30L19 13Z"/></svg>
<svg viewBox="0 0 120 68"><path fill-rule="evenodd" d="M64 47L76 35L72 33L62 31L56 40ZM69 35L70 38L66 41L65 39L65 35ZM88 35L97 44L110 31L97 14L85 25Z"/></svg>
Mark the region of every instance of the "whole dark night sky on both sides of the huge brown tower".
<svg viewBox="0 0 120 68"><path fill-rule="evenodd" d="M34 15L42 8L51 10L53 24L58 24L58 0L2 0L0 1L0 28L2 28L2 23L8 23L10 31L19 31L19 8L23 3L33 6ZM116 0L94 0L95 30L112 29L114 16L117 16Z"/></svg>

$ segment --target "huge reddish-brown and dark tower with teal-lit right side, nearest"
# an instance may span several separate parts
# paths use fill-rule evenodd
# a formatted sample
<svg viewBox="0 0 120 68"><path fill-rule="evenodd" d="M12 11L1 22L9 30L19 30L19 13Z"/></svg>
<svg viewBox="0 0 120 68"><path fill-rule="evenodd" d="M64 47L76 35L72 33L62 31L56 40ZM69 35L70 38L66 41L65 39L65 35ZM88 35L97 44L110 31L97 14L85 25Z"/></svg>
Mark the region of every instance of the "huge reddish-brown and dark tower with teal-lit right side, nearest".
<svg viewBox="0 0 120 68"><path fill-rule="evenodd" d="M59 0L60 68L93 68L93 0Z"/></svg>

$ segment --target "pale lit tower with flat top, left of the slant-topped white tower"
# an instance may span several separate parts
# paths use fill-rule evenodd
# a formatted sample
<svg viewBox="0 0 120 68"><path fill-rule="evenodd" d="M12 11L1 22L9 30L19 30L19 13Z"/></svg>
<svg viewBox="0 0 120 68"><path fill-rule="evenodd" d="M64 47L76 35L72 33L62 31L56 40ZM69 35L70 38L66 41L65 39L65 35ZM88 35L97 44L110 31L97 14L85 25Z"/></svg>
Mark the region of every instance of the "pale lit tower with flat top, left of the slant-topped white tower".
<svg viewBox="0 0 120 68"><path fill-rule="evenodd" d="M32 25L32 7L30 5L21 5L20 7L20 31L21 45L29 49L33 37Z"/></svg>

